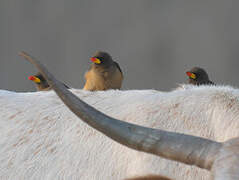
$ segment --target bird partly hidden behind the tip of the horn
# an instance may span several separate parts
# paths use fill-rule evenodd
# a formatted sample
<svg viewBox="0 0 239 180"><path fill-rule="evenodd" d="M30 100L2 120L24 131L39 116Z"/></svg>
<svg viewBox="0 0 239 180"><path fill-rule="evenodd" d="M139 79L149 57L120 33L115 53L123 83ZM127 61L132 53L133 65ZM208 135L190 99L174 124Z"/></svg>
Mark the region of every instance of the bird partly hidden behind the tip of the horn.
<svg viewBox="0 0 239 180"><path fill-rule="evenodd" d="M35 75L29 76L28 79L35 83L37 91L49 91L52 89L43 75L39 72ZM67 89L70 89L67 85L64 84L64 86Z"/></svg>

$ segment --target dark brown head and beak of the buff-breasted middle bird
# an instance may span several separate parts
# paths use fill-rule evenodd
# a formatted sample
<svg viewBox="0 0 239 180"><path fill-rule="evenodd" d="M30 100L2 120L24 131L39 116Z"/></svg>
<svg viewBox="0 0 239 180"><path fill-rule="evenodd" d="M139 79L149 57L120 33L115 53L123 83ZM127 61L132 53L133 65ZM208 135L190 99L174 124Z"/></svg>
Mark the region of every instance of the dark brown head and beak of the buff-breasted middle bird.
<svg viewBox="0 0 239 180"><path fill-rule="evenodd" d="M102 51L98 51L95 53L93 57L90 58L90 60L95 64L99 66L107 66L113 63L112 57Z"/></svg>

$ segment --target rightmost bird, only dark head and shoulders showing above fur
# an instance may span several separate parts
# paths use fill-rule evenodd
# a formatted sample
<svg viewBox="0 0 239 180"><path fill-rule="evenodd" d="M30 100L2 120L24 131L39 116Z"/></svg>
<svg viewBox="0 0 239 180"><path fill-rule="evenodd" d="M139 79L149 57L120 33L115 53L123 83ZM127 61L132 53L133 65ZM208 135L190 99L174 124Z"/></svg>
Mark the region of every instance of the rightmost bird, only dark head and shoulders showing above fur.
<svg viewBox="0 0 239 180"><path fill-rule="evenodd" d="M186 72L189 77L189 84L193 85L215 85L214 82L209 80L207 72L199 67L194 67L190 71Z"/></svg>

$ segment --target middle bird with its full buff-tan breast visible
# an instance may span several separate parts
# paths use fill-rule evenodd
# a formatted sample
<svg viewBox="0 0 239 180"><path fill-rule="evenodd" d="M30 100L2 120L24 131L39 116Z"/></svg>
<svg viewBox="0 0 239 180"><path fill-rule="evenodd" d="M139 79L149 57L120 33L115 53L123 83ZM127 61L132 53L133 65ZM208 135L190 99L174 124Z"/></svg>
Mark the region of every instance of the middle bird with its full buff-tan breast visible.
<svg viewBox="0 0 239 180"><path fill-rule="evenodd" d="M91 67L85 73L86 83L84 90L97 91L120 89L123 73L117 62L106 52L97 52L92 58Z"/></svg>

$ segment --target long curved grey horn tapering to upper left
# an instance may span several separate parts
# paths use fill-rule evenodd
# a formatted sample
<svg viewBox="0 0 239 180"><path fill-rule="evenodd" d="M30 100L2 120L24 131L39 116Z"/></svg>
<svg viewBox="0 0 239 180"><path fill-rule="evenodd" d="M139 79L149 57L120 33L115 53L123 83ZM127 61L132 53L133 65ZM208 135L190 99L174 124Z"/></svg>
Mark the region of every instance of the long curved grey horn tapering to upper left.
<svg viewBox="0 0 239 180"><path fill-rule="evenodd" d="M222 146L221 143L180 133L141 127L111 118L72 94L35 58L24 52L21 52L20 56L36 66L72 112L111 139L138 151L211 169L216 153Z"/></svg>

